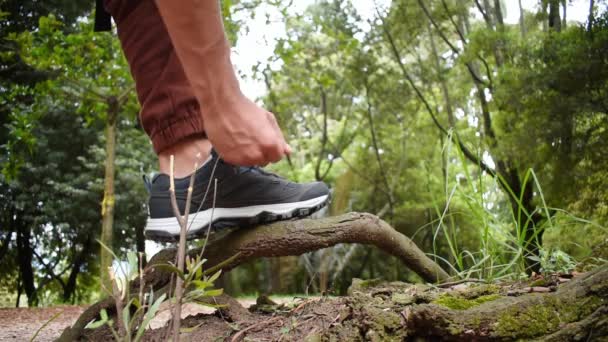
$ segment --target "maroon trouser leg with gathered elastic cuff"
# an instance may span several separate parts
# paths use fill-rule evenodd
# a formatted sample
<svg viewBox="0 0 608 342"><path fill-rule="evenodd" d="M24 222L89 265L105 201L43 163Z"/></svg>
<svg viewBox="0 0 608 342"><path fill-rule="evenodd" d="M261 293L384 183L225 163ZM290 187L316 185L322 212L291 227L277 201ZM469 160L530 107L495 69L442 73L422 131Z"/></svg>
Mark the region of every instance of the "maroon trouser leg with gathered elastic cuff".
<svg viewBox="0 0 608 342"><path fill-rule="evenodd" d="M154 0L105 0L105 7L118 27L154 151L204 136L199 103Z"/></svg>

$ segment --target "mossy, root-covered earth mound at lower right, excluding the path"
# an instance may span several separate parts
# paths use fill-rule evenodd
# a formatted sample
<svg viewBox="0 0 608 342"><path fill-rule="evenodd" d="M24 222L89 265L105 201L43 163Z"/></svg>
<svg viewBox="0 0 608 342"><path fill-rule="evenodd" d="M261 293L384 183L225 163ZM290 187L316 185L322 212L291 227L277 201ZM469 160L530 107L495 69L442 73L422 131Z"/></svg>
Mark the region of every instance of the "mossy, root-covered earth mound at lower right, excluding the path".
<svg viewBox="0 0 608 342"><path fill-rule="evenodd" d="M527 284L467 285L354 281L346 297L309 299L213 329L217 316L192 317L191 341L608 341L608 265L557 285L511 296ZM523 289L522 288L522 289ZM149 338L160 332L150 331Z"/></svg>

